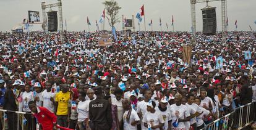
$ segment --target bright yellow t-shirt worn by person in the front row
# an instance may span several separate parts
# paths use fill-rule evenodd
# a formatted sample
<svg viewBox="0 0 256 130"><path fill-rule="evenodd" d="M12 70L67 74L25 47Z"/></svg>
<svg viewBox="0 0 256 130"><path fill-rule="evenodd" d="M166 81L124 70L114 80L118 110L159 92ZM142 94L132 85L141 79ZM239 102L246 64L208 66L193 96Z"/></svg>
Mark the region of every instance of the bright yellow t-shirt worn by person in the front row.
<svg viewBox="0 0 256 130"><path fill-rule="evenodd" d="M62 91L56 94L56 102L58 102L58 108L56 115L67 115L69 111L69 99L70 92L63 93Z"/></svg>

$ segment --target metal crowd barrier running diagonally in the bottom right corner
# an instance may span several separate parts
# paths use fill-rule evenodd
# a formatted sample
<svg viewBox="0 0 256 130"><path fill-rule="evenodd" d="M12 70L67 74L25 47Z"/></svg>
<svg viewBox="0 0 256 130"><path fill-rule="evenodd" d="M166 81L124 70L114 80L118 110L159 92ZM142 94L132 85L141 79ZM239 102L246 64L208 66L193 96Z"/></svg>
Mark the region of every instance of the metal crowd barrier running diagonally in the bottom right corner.
<svg viewBox="0 0 256 130"><path fill-rule="evenodd" d="M207 124L202 130L242 129L255 121L256 102L242 105L233 112Z"/></svg>

